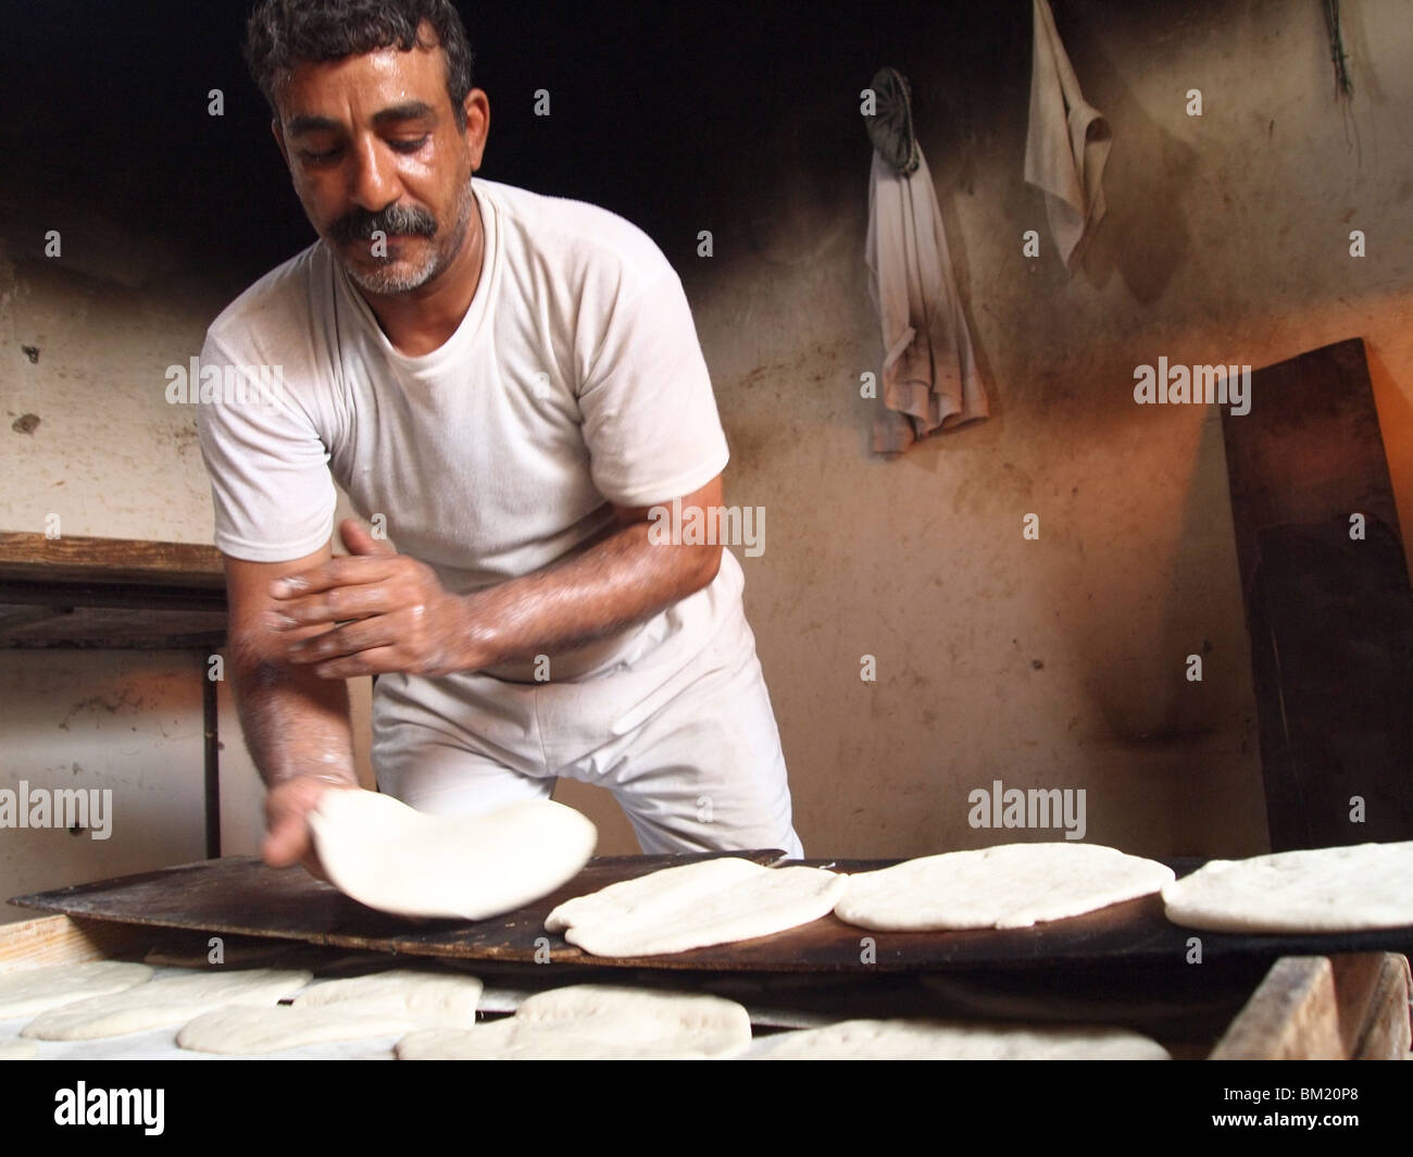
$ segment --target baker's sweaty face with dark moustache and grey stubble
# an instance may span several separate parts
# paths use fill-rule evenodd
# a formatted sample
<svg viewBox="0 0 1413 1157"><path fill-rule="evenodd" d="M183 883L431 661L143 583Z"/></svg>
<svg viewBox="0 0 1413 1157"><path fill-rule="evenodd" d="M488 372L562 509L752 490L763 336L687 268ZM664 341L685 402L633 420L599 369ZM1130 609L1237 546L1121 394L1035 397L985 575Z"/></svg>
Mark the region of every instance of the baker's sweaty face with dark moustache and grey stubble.
<svg viewBox="0 0 1413 1157"><path fill-rule="evenodd" d="M319 236L367 293L407 293L461 252L487 127L485 93L466 129L447 95L442 50L386 48L301 64L278 93L276 139Z"/></svg>

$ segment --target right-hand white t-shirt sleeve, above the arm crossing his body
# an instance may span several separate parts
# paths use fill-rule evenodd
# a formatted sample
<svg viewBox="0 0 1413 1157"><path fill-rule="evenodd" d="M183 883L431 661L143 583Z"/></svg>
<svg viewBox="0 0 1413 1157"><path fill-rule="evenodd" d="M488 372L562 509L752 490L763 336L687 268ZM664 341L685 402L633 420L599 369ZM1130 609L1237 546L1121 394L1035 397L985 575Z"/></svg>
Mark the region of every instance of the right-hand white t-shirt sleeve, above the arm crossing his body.
<svg viewBox="0 0 1413 1157"><path fill-rule="evenodd" d="M649 506L687 495L726 467L711 375L671 266L613 304L579 412L589 472L609 502Z"/></svg>

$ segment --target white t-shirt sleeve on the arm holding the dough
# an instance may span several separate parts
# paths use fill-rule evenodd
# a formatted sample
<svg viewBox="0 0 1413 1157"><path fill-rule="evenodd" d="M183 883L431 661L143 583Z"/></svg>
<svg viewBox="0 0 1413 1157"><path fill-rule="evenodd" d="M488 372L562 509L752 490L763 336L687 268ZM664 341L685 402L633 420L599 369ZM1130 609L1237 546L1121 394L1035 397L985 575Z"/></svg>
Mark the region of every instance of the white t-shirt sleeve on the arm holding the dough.
<svg viewBox="0 0 1413 1157"><path fill-rule="evenodd" d="M209 335L201 368L196 431L216 547L257 563L312 554L329 540L338 495L324 441L283 371L242 366ZM219 383L212 368L220 369Z"/></svg>

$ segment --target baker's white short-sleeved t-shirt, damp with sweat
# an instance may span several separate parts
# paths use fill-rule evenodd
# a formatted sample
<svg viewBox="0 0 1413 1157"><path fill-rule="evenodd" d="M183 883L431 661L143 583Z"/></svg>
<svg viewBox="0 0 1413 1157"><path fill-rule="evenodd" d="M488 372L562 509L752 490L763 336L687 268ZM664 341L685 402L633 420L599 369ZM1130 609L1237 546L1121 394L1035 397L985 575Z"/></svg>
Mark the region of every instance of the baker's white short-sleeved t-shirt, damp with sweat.
<svg viewBox="0 0 1413 1157"><path fill-rule="evenodd" d="M479 178L473 190L480 283L431 354L389 342L322 242L212 322L203 372L253 380L264 366L281 385L256 400L227 385L198 407L220 550L318 550L333 529L332 474L365 519L386 518L401 553L468 593L572 550L613 522L609 502L667 502L726 465L691 310L653 240L595 205ZM726 550L712 584L653 635L691 628L704 644L739 612L740 586ZM643 627L575 652L555 678L603 669Z"/></svg>

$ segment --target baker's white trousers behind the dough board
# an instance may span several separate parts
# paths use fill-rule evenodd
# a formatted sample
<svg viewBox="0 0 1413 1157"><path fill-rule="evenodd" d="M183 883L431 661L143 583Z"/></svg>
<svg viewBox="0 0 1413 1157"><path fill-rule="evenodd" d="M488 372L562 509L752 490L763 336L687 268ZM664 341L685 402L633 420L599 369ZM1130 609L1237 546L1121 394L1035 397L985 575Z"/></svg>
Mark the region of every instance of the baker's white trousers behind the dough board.
<svg viewBox="0 0 1413 1157"><path fill-rule="evenodd" d="M671 649L578 682L382 675L373 694L379 788L422 812L465 816L548 799L565 775L610 791L646 854L780 847L803 857L780 733L739 603L685 662Z"/></svg>

